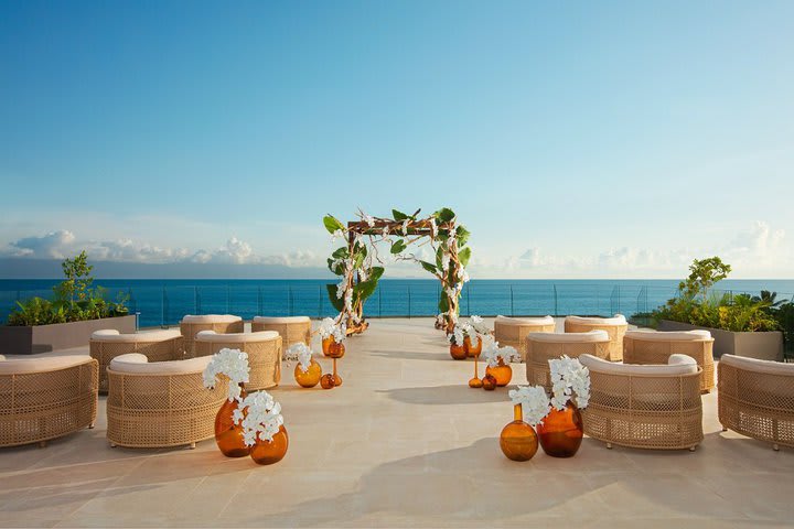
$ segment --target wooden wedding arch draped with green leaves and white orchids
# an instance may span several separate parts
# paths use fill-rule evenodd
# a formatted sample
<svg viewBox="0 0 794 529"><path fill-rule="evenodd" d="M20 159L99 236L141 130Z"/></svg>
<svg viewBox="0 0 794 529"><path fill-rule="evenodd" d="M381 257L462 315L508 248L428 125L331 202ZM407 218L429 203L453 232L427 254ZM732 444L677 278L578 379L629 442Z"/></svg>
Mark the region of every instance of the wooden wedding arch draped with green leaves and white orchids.
<svg viewBox="0 0 794 529"><path fill-rule="evenodd" d="M331 240L341 238L346 242L328 259L329 269L340 277L337 284L330 284L329 299L340 311L340 321L361 330L364 301L375 292L377 281L384 273L384 259L378 244L389 245L389 255L397 260L411 260L421 264L440 282L444 295L439 300L442 322L438 326L451 331L458 323L459 303L463 285L470 280L465 267L471 258L468 247L469 230L458 224L458 216L444 207L425 218L420 209L412 215L391 210L391 217L374 217L358 210L360 220L343 224L332 215L323 217ZM429 239L432 257L420 259L406 250L420 239Z"/></svg>

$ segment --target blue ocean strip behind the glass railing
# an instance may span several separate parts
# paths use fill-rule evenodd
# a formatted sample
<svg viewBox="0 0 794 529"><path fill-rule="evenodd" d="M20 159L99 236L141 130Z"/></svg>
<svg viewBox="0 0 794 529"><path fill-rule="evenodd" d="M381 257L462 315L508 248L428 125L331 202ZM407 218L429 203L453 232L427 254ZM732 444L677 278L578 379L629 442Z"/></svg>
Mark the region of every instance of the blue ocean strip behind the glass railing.
<svg viewBox="0 0 794 529"><path fill-rule="evenodd" d="M0 321L17 300L50 298L58 280L0 280ZM256 315L335 314L325 284L333 280L96 280L107 299L129 295L131 313L140 327L174 325L185 314ZM602 315L631 316L650 312L676 293L678 280L472 280L463 289L461 314ZM761 290L777 298L794 298L794 280L725 280L715 290L757 295ZM431 279L384 279L365 304L365 315L431 316L438 313L440 290Z"/></svg>

